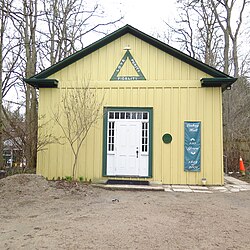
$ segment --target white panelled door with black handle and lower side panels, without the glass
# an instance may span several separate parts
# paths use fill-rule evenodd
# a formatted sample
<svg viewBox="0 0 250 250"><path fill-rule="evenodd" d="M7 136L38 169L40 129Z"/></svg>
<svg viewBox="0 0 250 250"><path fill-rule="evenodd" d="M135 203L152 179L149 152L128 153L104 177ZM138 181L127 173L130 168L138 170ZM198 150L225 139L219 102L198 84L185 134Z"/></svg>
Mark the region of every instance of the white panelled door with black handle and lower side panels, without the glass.
<svg viewBox="0 0 250 250"><path fill-rule="evenodd" d="M107 173L114 176L148 176L148 154L142 152L141 121L115 121L114 152L107 157Z"/></svg>

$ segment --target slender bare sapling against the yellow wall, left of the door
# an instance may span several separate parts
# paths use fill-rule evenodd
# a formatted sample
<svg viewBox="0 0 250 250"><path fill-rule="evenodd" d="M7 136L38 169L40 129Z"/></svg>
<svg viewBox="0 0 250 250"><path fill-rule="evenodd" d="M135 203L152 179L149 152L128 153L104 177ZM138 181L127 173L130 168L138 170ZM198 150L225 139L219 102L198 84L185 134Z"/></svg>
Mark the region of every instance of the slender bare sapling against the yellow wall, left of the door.
<svg viewBox="0 0 250 250"><path fill-rule="evenodd" d="M76 178L78 156L90 128L100 117L103 100L99 101L96 90L88 81L81 88L68 88L61 97L61 103L53 118L61 128L63 137L70 145L74 156L72 177Z"/></svg>

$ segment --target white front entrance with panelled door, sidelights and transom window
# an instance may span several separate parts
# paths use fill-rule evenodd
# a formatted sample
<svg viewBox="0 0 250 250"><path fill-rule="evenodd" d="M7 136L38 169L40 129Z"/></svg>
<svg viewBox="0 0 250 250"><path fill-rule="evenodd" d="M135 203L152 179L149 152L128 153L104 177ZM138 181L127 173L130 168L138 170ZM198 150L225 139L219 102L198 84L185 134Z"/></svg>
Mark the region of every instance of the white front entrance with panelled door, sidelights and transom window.
<svg viewBox="0 0 250 250"><path fill-rule="evenodd" d="M108 117L107 175L148 176L148 113L113 111Z"/></svg>

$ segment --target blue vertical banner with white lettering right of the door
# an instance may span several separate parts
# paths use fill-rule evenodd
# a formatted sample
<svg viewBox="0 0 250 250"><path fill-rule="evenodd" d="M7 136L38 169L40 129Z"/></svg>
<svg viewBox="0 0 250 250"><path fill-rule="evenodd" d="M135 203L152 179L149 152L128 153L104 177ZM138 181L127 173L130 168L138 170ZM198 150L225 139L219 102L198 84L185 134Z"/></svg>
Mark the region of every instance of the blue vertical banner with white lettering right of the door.
<svg viewBox="0 0 250 250"><path fill-rule="evenodd" d="M184 122L184 170L199 172L201 170L201 123Z"/></svg>

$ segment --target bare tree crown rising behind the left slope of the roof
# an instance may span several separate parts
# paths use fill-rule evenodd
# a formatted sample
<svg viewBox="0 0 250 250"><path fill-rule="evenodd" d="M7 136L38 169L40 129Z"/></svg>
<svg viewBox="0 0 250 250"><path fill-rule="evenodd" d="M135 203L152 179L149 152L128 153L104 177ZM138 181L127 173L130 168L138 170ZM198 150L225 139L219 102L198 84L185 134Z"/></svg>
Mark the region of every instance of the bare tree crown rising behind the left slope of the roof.
<svg viewBox="0 0 250 250"><path fill-rule="evenodd" d="M84 37L90 32L105 34L104 28L116 24L105 17L99 4L87 4L84 0L42 0L44 37L42 57L52 65L84 47ZM48 52L48 53L47 53Z"/></svg>

